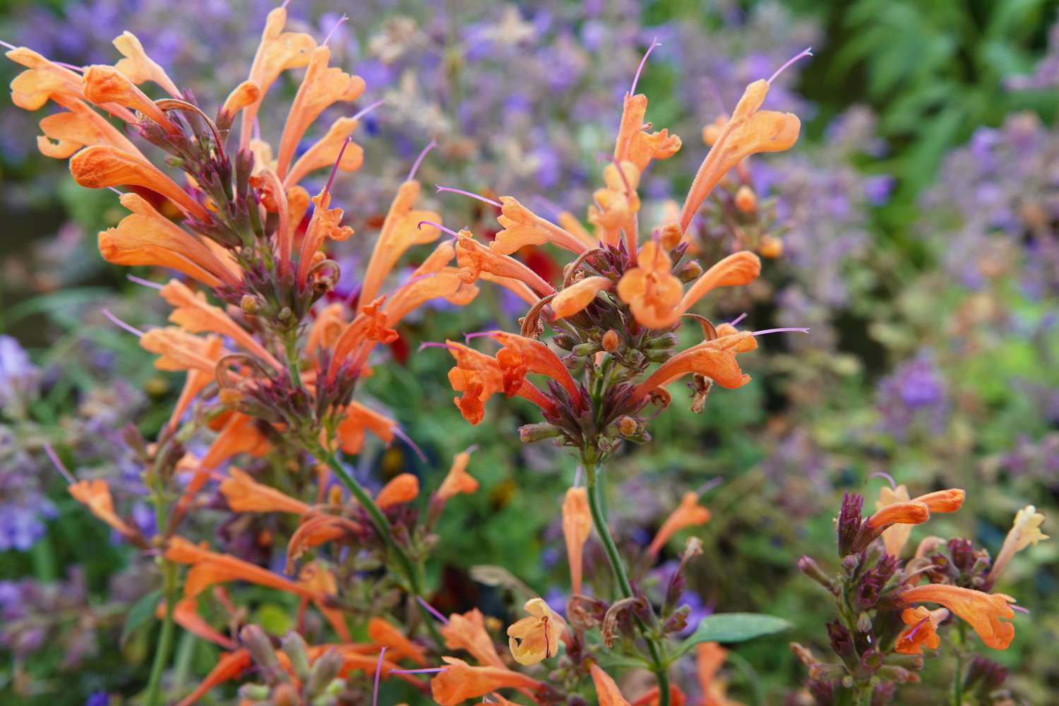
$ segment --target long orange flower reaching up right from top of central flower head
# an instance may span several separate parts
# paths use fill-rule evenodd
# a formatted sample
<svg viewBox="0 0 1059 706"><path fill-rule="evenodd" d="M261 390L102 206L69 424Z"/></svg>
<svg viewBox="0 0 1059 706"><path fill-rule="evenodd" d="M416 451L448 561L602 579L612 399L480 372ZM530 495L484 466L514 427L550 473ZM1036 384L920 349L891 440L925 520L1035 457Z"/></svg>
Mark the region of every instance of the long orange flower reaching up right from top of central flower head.
<svg viewBox="0 0 1059 706"><path fill-rule="evenodd" d="M732 119L724 124L695 175L680 213L681 233L687 230L695 212L729 169L751 155L790 149L797 141L802 124L796 115L759 110L769 86L765 79L755 80L739 98Z"/></svg>

